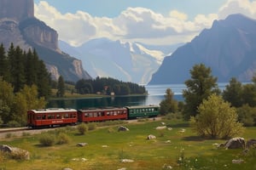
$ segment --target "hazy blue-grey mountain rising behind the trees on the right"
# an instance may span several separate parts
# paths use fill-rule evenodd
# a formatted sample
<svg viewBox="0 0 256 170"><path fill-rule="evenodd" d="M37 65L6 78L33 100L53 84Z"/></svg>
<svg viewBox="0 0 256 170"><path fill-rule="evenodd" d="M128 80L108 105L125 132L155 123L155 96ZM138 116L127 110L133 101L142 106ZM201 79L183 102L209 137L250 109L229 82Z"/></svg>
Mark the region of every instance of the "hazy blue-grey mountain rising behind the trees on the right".
<svg viewBox="0 0 256 170"><path fill-rule="evenodd" d="M183 83L195 64L211 67L218 82L250 82L256 72L256 20L231 14L167 56L148 84Z"/></svg>

